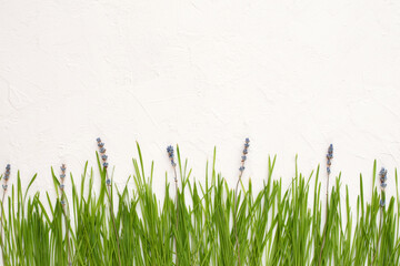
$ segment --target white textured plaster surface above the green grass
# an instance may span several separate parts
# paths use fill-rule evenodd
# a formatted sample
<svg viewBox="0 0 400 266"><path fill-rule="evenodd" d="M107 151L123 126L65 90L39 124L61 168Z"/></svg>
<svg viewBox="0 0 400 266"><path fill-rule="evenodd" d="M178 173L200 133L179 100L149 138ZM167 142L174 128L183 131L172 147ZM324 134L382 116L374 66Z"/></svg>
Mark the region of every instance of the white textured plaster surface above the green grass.
<svg viewBox="0 0 400 266"><path fill-rule="evenodd" d="M118 185L136 141L160 193L170 143L201 181L217 145L233 184L249 136L256 184L268 154L289 183L297 153L309 174L333 143L352 201L374 158L392 193L399 89L399 1L0 0L0 163L38 172L33 190L51 165L96 166L97 136Z"/></svg>

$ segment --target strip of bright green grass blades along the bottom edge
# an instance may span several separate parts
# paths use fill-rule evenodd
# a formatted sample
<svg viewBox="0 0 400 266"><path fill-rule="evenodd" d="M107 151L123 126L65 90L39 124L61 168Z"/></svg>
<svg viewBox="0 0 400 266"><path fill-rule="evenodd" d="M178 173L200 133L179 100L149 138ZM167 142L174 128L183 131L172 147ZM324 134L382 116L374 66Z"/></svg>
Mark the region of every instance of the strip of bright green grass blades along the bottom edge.
<svg viewBox="0 0 400 266"><path fill-rule="evenodd" d="M133 174L119 188L110 185L112 172L99 153L98 170L86 163L82 175L70 174L66 186L51 170L57 198L29 193L37 175L22 188L17 172L1 201L3 265L400 265L397 171L388 174L397 192L391 198L374 184L377 162L371 198L364 197L360 175L352 213L340 174L331 176L333 185L321 197L319 166L306 176L296 163L283 188L270 157L262 187L254 191L250 178L246 186L240 178L231 188L216 171L216 150L202 182L191 177L188 161L176 151L161 200L152 190L153 163L144 171L139 144ZM179 187L171 187L178 175Z"/></svg>

